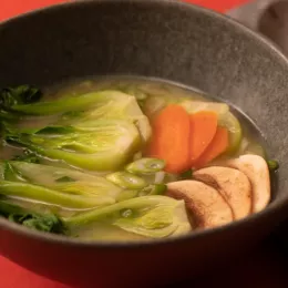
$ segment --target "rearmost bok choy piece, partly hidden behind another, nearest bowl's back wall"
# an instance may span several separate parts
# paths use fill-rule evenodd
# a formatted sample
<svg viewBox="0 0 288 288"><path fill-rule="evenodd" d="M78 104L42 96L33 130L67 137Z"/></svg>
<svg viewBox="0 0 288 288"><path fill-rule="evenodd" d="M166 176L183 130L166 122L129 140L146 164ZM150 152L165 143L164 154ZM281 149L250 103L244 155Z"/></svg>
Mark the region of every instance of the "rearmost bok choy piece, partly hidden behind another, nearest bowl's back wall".
<svg viewBox="0 0 288 288"><path fill-rule="evenodd" d="M34 104L12 105L12 110L27 115L60 115L50 126L30 127L25 133L63 133L63 127L79 127L83 122L100 119L128 120L138 128L144 142L151 137L151 126L148 119L143 114L136 99L120 91L90 92L83 95L69 96L51 102L40 102ZM20 133L19 127L13 127L16 133ZM56 131L60 130L60 131ZM61 131L62 130L62 131Z"/></svg>

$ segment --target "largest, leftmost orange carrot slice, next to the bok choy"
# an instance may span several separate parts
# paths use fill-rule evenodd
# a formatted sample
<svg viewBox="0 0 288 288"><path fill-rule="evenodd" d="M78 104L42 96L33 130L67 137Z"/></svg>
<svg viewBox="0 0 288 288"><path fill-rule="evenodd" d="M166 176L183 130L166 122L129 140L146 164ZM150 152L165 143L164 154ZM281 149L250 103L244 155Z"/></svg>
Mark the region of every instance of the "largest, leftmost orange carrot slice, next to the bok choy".
<svg viewBox="0 0 288 288"><path fill-rule="evenodd" d="M168 105L152 123L148 154L166 162L165 171L182 173L189 168L189 114L179 105Z"/></svg>

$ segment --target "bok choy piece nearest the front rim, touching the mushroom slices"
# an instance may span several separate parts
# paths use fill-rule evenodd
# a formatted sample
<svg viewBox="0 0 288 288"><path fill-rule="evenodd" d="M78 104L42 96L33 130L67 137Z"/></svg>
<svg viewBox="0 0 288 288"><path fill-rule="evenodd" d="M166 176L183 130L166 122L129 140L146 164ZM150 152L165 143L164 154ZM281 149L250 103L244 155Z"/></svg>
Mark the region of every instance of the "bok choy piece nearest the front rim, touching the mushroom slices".
<svg viewBox="0 0 288 288"><path fill-rule="evenodd" d="M131 210L127 214L123 210ZM93 209L64 219L70 229L103 223L145 237L163 238L191 230L185 204L166 196L146 196Z"/></svg>

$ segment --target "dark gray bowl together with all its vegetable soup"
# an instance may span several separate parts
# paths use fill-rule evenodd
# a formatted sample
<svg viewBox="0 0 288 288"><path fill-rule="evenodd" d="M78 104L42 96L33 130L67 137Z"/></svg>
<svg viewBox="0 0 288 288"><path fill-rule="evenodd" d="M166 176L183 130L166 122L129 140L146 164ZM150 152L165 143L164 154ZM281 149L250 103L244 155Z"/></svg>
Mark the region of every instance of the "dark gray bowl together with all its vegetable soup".
<svg viewBox="0 0 288 288"><path fill-rule="evenodd" d="M151 287L286 219L288 63L261 37L106 0L10 20L0 42L3 256L75 287Z"/></svg>

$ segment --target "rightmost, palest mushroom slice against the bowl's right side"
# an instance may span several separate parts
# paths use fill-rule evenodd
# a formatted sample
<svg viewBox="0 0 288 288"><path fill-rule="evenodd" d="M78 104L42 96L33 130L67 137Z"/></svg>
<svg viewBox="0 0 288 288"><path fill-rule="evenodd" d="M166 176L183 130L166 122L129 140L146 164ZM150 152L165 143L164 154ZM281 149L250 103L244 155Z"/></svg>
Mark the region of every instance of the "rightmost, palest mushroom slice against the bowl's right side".
<svg viewBox="0 0 288 288"><path fill-rule="evenodd" d="M269 168L266 161L258 155L243 155L228 162L230 167L241 171L253 186L253 212L263 210L271 198Z"/></svg>

